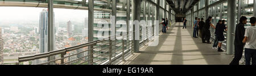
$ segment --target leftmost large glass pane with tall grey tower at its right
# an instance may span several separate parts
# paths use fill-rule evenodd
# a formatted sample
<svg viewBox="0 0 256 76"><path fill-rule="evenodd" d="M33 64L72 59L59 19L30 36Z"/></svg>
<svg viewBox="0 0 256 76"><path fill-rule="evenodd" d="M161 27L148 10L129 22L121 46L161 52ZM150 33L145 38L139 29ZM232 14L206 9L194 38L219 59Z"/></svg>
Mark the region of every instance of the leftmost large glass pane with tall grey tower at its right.
<svg viewBox="0 0 256 76"><path fill-rule="evenodd" d="M3 0L0 0L2 2ZM33 7L6 7L4 5L26 6L25 3L30 2ZM43 1L40 4L46 4ZM19 5L17 4L19 3ZM47 6L34 7L38 5L38 1L13 1L5 0L0 10L0 29L3 39L3 62L4 64L15 64L19 56L35 55L47 52L47 25L48 11ZM18 14L17 14L18 12ZM44 37L42 34L44 33ZM42 48L43 50L40 50ZM0 51L1 52L1 51ZM2 53L0 53L2 54ZM40 59L40 62L47 59ZM19 64L32 64L35 61L20 62Z"/></svg>

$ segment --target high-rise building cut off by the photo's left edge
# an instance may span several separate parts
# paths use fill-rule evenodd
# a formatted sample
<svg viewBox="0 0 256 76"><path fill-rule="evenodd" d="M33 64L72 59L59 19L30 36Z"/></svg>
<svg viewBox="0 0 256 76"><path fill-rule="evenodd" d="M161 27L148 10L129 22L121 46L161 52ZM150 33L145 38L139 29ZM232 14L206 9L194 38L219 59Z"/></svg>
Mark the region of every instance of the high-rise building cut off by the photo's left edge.
<svg viewBox="0 0 256 76"><path fill-rule="evenodd" d="M0 27L0 65L3 64L3 39L2 28Z"/></svg>

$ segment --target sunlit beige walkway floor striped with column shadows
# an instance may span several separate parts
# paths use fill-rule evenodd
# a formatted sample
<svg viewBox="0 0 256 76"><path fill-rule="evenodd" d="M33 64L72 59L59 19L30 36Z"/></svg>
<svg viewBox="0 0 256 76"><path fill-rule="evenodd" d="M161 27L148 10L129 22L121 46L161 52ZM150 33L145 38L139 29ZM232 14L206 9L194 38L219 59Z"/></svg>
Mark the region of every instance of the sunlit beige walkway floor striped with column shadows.
<svg viewBox="0 0 256 76"><path fill-rule="evenodd" d="M193 29L182 23L175 23L167 33L159 36L155 47L141 48L139 53L129 56L122 65L228 65L232 55L217 52L212 44L193 38Z"/></svg>

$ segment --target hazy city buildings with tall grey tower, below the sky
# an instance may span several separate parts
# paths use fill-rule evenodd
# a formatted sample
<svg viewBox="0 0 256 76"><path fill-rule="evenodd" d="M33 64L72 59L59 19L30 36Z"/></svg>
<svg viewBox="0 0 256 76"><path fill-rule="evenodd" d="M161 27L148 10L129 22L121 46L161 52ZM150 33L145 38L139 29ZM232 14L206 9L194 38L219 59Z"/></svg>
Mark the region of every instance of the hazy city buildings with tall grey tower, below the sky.
<svg viewBox="0 0 256 76"><path fill-rule="evenodd" d="M47 52L47 12L45 9L40 12L39 25L36 22L1 25L0 40L3 41L0 41L0 64L3 57ZM55 22L55 50L88 42L88 26L85 23L71 22L72 20L66 22L67 24Z"/></svg>

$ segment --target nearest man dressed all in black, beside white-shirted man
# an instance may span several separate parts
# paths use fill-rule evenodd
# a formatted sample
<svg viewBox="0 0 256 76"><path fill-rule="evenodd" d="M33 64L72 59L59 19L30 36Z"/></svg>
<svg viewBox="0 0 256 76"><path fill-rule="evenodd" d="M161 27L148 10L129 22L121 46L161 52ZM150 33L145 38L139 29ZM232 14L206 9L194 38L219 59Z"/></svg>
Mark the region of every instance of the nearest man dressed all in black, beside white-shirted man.
<svg viewBox="0 0 256 76"><path fill-rule="evenodd" d="M240 23L236 25L235 39L234 39L234 59L230 62L230 65L239 65L239 61L242 58L243 46L245 44L242 42L245 38L245 24L247 23L247 18L242 16L240 18Z"/></svg>

